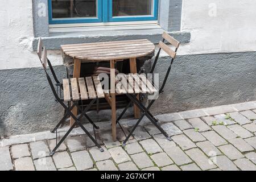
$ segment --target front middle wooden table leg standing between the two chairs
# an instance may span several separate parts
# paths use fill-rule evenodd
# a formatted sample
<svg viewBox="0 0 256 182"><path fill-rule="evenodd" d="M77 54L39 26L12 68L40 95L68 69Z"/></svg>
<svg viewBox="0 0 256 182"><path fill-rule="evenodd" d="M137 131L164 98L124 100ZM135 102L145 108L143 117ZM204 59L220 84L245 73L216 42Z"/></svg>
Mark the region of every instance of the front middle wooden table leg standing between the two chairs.
<svg viewBox="0 0 256 182"><path fill-rule="evenodd" d="M111 96L111 109L112 109L112 138L113 141L117 140L117 113L115 109L115 60L110 61L110 96Z"/></svg>

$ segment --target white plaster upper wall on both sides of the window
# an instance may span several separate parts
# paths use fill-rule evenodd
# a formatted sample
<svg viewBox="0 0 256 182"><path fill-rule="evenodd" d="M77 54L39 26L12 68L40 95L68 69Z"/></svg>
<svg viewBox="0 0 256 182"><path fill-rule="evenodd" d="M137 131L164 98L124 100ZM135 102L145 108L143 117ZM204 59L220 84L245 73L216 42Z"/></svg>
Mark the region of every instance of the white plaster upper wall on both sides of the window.
<svg viewBox="0 0 256 182"><path fill-rule="evenodd" d="M216 16L210 16L215 5ZM178 55L256 51L254 0L183 0L182 16L182 31L191 32L191 42ZM1 0L0 20L0 70L40 67L31 48L32 0ZM53 65L62 64L60 51L48 56Z"/></svg>

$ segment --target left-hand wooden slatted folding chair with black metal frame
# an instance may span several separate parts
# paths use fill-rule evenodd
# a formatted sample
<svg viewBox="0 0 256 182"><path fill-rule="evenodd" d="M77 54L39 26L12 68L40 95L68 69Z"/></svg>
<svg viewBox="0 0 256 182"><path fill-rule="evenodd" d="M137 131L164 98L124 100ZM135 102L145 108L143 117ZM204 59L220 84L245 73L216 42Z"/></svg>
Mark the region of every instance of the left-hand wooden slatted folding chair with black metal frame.
<svg viewBox="0 0 256 182"><path fill-rule="evenodd" d="M86 112L92 107L94 102L97 98L104 98L104 91L102 89L102 85L100 82L99 77L85 77L85 78L79 78L78 80L76 78L68 78L63 79L63 83L61 85L61 90L63 91L63 97L61 96L61 90L60 92L57 92L55 89L55 86L53 85L53 82L51 80L51 77L48 75L47 72L47 63L50 63L50 61L47 59L47 50L46 48L42 48L42 41L39 41L38 43L38 56L39 59L43 65L44 71L46 72L46 77L49 82L49 85L51 87L51 90L53 92L53 95L55 96L55 100L60 103L61 106L63 106L65 110L64 117L60 120L59 123L57 123L56 127L51 131L52 133L55 133L56 131L56 147L51 151L50 155L54 155L57 148L59 148L60 144L64 142L65 138L68 137L68 135L71 133L71 131L75 128L75 126L80 126L81 129L85 132L85 134L88 135L90 139L92 139L93 143L96 144L96 146L100 149L101 152L103 152L103 148L101 148L100 144L97 143L96 140L96 134L95 129L99 129L98 126L96 126L92 119L89 118L89 116L86 114ZM51 64L51 63L50 63ZM56 77L53 68L51 68L52 76ZM54 76L55 75L55 76ZM57 77L56 77L57 79ZM56 81L56 80L55 80ZM79 101L82 100L90 100L90 104L85 108L85 110L82 110L79 106ZM65 102L72 101L72 106L67 106ZM77 107L81 115L77 118L73 113L72 109L74 107ZM72 117L75 120L75 123L71 126L71 128L67 131L67 133L64 135L63 138L60 139L60 142L57 142L57 129L59 126L65 122L65 119L68 117ZM88 121L93 125L94 135L95 139L92 137L92 135L88 132L88 130L85 129L85 127L81 123L81 118L85 117L88 119Z"/></svg>

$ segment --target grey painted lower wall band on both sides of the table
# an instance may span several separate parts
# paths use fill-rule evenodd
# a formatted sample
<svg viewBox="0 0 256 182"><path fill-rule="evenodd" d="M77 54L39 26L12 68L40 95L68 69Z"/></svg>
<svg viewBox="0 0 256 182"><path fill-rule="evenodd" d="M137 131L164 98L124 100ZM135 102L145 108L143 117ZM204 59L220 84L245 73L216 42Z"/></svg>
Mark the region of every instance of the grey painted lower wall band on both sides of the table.
<svg viewBox="0 0 256 182"><path fill-rule="evenodd" d="M255 61L256 52L177 56L164 94L151 110L160 114L256 100ZM168 64L166 57L159 59L160 78ZM64 66L55 70L65 77ZM0 90L1 136L49 130L63 115L42 68L0 71ZM110 119L110 111L100 114L94 119Z"/></svg>

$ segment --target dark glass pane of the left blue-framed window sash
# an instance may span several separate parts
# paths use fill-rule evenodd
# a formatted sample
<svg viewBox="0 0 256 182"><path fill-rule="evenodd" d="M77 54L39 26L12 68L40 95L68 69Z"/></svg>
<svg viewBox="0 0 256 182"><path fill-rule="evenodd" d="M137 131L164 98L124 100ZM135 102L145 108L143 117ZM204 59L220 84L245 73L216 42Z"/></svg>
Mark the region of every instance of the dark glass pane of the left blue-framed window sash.
<svg viewBox="0 0 256 182"><path fill-rule="evenodd" d="M52 0L52 18L97 16L97 0Z"/></svg>

